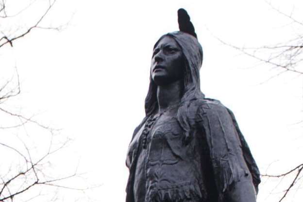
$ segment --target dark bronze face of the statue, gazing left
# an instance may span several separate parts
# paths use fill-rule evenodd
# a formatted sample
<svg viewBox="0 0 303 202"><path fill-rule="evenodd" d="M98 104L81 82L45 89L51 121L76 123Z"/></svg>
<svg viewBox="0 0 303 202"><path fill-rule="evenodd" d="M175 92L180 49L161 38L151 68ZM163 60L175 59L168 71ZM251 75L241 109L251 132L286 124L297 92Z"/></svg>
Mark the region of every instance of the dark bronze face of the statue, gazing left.
<svg viewBox="0 0 303 202"><path fill-rule="evenodd" d="M165 36L153 49L151 74L152 80L159 86L183 79L184 57L173 38Z"/></svg>

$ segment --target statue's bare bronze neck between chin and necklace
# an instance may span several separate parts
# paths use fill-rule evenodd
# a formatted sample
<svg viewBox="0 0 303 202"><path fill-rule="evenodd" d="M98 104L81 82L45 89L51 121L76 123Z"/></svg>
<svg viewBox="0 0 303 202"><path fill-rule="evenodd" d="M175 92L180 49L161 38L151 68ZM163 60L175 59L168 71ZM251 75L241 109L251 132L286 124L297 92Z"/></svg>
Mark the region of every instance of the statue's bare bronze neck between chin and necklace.
<svg viewBox="0 0 303 202"><path fill-rule="evenodd" d="M180 103L183 95L183 86L183 80L180 79L168 85L157 87L158 112Z"/></svg>

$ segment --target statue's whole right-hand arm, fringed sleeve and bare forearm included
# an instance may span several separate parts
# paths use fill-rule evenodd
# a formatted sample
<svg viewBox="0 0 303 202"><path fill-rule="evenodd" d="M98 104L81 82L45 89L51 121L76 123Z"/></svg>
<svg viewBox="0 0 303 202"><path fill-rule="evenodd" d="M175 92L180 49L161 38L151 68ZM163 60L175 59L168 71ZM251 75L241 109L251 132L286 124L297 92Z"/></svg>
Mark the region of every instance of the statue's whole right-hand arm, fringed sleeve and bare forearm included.
<svg viewBox="0 0 303 202"><path fill-rule="evenodd" d="M220 103L206 102L199 107L196 120L207 141L219 198L256 202L252 175L227 109Z"/></svg>

